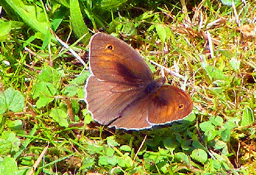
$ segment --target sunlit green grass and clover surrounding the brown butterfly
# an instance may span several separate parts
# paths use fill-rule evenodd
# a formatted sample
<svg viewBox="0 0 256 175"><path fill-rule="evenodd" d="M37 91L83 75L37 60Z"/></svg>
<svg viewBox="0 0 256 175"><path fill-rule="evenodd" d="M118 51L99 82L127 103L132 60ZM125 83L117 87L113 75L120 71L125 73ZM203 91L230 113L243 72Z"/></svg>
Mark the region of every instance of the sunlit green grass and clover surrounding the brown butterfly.
<svg viewBox="0 0 256 175"><path fill-rule="evenodd" d="M1 175L32 167L35 175L256 174L255 1L236 11L190 1L191 23L178 1L0 2ZM85 63L100 30L178 69L187 80L166 73L168 83L190 94L192 114L142 131L93 122L83 100L87 66L49 28Z"/></svg>

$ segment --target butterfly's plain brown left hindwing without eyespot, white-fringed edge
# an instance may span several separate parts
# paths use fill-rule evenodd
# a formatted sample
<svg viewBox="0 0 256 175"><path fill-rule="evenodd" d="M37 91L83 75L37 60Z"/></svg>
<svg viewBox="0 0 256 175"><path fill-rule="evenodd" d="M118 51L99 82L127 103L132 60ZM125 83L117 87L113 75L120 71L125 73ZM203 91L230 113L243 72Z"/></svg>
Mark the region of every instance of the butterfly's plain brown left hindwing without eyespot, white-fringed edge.
<svg viewBox="0 0 256 175"><path fill-rule="evenodd" d="M107 125L118 118L141 91L126 84L100 81L92 75L85 86L85 102L92 118Z"/></svg>

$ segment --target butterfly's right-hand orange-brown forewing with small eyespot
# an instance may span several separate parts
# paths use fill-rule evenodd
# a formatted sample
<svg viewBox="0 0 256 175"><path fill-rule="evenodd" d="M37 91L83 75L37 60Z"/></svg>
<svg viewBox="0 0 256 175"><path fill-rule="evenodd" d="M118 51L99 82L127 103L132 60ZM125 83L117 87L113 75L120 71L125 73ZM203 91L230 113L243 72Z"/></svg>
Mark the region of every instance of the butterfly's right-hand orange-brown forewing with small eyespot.
<svg viewBox="0 0 256 175"><path fill-rule="evenodd" d="M190 96L180 88L162 85L149 99L148 122L154 125L182 120L190 114L193 102Z"/></svg>

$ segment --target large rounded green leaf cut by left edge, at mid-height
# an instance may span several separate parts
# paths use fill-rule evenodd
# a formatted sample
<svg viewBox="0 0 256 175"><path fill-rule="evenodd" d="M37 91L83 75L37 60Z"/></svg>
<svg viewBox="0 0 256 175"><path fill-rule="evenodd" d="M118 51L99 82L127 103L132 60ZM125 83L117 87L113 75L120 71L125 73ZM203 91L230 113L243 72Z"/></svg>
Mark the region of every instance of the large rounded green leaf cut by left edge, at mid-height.
<svg viewBox="0 0 256 175"><path fill-rule="evenodd" d="M24 108L24 97L19 91L8 88L0 93L0 114L6 111L19 112Z"/></svg>

